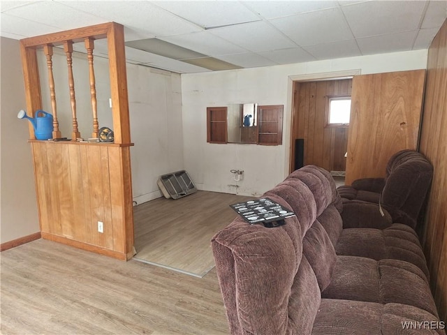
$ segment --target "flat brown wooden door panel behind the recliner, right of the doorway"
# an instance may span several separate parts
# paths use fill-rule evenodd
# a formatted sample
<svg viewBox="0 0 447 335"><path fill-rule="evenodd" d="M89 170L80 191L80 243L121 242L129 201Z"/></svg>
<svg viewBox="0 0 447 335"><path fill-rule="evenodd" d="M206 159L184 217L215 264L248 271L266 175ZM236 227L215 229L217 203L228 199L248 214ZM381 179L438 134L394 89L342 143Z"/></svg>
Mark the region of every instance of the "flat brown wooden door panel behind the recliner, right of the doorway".
<svg viewBox="0 0 447 335"><path fill-rule="evenodd" d="M345 184L384 177L395 152L416 149L425 70L353 77Z"/></svg>

